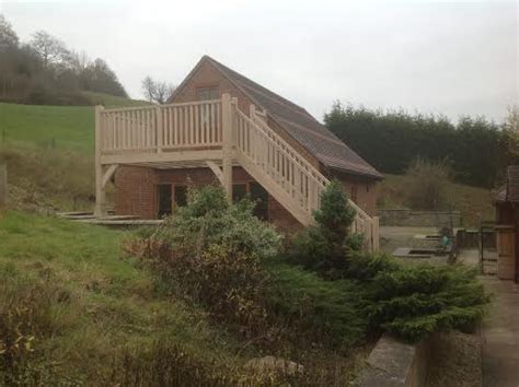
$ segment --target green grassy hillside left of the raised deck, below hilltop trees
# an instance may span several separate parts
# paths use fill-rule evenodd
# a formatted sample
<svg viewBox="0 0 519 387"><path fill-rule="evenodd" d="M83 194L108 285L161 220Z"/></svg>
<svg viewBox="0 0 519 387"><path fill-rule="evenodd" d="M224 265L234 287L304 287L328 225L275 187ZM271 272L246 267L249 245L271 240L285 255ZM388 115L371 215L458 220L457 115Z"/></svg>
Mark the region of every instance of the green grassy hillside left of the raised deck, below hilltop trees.
<svg viewBox="0 0 519 387"><path fill-rule="evenodd" d="M146 102L85 94L106 107ZM0 163L8 164L10 207L55 212L92 210L94 108L0 103Z"/></svg>

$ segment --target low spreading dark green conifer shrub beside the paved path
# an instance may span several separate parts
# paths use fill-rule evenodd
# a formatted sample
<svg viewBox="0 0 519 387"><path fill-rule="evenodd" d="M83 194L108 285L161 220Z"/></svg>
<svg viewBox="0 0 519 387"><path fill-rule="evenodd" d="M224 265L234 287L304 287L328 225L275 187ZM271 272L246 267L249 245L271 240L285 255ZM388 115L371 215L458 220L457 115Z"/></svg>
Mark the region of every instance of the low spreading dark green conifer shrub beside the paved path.
<svg viewBox="0 0 519 387"><path fill-rule="evenodd" d="M410 341L435 331L471 330L489 298L476 272L462 266L405 266L384 255L356 255L348 275L359 281L364 314Z"/></svg>

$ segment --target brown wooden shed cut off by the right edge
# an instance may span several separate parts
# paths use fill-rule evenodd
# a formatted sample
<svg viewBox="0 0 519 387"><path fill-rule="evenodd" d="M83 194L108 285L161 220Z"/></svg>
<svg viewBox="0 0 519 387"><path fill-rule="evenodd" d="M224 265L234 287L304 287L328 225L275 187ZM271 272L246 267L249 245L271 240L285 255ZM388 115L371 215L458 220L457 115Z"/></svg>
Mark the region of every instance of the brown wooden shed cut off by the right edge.
<svg viewBox="0 0 519 387"><path fill-rule="evenodd" d="M510 165L495 197L497 275L519 283L519 165Z"/></svg>

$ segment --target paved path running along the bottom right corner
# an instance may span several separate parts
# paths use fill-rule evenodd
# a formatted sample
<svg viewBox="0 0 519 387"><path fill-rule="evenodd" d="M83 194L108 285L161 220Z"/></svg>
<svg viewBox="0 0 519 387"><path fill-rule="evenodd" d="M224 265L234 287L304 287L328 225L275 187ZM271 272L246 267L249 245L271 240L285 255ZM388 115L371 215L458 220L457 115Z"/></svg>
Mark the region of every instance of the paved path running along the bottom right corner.
<svg viewBox="0 0 519 387"><path fill-rule="evenodd" d="M483 386L519 387L519 285L481 277L494 293L482 326Z"/></svg>

